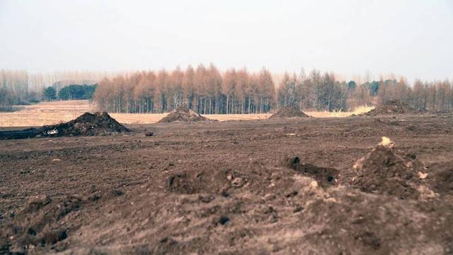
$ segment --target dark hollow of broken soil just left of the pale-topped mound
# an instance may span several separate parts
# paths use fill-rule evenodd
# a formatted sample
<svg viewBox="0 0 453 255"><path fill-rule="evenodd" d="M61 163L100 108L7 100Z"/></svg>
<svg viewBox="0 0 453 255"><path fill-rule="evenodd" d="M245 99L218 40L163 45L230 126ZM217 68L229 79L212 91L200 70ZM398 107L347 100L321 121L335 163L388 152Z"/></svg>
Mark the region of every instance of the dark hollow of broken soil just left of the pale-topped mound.
<svg viewBox="0 0 453 255"><path fill-rule="evenodd" d="M282 166L294 169L299 174L315 179L324 188L337 184L337 169L302 164L299 157L285 157L282 161Z"/></svg>

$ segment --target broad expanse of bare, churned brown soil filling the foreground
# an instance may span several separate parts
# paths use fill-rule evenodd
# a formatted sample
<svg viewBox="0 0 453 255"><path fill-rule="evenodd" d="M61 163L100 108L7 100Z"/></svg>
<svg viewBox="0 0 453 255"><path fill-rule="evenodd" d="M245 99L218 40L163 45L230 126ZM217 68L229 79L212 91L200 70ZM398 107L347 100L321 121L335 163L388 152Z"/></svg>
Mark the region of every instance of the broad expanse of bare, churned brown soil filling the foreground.
<svg viewBox="0 0 453 255"><path fill-rule="evenodd" d="M0 254L453 253L449 115L127 128L1 140Z"/></svg>

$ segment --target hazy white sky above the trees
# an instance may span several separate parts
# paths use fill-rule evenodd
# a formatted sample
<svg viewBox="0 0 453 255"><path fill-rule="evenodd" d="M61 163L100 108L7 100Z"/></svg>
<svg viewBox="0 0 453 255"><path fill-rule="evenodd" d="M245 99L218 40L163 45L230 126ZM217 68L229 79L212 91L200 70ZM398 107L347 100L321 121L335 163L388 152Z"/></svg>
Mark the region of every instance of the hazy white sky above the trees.
<svg viewBox="0 0 453 255"><path fill-rule="evenodd" d="M122 71L213 62L453 78L453 0L0 0L0 69Z"/></svg>

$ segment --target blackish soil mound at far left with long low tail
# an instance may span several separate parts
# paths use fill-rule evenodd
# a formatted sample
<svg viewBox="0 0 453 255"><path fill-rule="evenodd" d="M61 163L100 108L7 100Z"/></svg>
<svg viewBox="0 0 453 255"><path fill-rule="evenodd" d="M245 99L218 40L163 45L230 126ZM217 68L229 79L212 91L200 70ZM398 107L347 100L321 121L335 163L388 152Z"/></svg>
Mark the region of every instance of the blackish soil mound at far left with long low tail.
<svg viewBox="0 0 453 255"><path fill-rule="evenodd" d="M59 125L45 125L42 128L0 132L1 139L24 139L31 137L60 137L78 135L109 135L129 132L106 112L84 113L75 120Z"/></svg>

